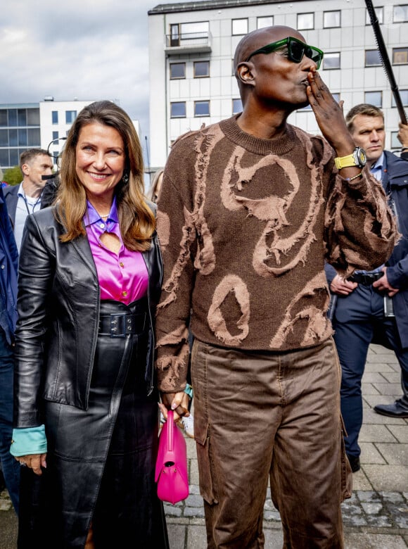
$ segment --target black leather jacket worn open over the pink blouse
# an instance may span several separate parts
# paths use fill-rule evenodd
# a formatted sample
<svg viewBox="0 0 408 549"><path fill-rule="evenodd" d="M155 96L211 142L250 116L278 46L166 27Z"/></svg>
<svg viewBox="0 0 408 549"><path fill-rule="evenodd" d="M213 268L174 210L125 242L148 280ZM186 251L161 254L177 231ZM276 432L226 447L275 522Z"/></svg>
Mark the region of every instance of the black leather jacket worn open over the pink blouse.
<svg viewBox="0 0 408 549"><path fill-rule="evenodd" d="M151 204L151 208L155 208ZM87 410L98 336L100 289L86 236L67 243L55 206L27 216L20 251L15 332L15 427L43 423L42 400ZM148 268L150 329L146 393L153 391L155 307L162 284L157 235L143 253Z"/></svg>

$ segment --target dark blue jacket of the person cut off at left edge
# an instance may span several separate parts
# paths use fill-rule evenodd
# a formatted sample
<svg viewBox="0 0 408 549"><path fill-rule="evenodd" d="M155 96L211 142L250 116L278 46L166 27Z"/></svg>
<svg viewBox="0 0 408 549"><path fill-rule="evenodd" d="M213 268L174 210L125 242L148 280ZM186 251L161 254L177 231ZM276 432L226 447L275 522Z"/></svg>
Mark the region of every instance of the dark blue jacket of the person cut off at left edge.
<svg viewBox="0 0 408 549"><path fill-rule="evenodd" d="M17 321L17 270L18 249L0 187L0 327L10 344Z"/></svg>

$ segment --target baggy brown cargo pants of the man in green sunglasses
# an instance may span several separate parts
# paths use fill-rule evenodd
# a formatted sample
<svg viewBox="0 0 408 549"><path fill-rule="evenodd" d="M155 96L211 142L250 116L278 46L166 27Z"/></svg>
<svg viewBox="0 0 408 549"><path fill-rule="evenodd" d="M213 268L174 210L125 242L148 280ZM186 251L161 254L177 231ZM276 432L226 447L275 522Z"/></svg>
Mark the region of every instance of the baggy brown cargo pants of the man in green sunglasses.
<svg viewBox="0 0 408 549"><path fill-rule="evenodd" d="M286 353L195 340L191 359L208 548L264 547L268 479L284 549L343 548L352 474L333 340Z"/></svg>

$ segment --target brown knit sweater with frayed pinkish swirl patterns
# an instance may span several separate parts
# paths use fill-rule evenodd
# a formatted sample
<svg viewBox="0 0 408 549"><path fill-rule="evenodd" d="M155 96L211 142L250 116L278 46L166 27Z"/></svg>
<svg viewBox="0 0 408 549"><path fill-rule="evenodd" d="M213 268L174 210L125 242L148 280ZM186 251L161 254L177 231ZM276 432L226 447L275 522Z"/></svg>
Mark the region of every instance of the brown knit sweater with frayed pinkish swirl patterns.
<svg viewBox="0 0 408 549"><path fill-rule="evenodd" d="M381 184L368 170L346 182L333 157L321 137L288 125L259 139L236 117L174 144L158 205L161 391L184 389L190 312L212 345L317 346L332 334L324 261L350 274L388 258L396 233Z"/></svg>

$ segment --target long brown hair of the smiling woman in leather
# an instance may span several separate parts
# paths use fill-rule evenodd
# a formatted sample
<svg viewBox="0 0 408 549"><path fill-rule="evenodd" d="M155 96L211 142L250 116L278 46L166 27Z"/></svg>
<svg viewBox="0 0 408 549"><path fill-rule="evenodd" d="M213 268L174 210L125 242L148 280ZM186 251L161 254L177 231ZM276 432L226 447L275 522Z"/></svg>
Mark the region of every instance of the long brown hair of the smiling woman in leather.
<svg viewBox="0 0 408 549"><path fill-rule="evenodd" d="M139 137L129 115L112 101L95 101L82 109L68 133L61 159L56 217L65 226L61 241L85 235L83 217L87 196L76 172L76 146L82 127L98 122L115 128L125 146L125 170L115 187L123 244L129 250L146 251L155 231L155 215L144 196L144 164Z"/></svg>

